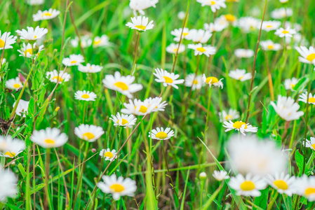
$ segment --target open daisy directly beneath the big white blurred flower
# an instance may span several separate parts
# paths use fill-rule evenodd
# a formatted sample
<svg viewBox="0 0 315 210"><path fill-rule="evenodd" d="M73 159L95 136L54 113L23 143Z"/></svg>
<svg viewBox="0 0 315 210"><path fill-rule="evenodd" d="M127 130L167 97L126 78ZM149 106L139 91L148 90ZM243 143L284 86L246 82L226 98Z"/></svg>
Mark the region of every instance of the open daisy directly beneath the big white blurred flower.
<svg viewBox="0 0 315 210"><path fill-rule="evenodd" d="M260 190L264 190L267 183L260 176L246 174L244 177L242 174L237 174L235 177L231 177L229 186L237 191L236 195L259 197L262 195Z"/></svg>

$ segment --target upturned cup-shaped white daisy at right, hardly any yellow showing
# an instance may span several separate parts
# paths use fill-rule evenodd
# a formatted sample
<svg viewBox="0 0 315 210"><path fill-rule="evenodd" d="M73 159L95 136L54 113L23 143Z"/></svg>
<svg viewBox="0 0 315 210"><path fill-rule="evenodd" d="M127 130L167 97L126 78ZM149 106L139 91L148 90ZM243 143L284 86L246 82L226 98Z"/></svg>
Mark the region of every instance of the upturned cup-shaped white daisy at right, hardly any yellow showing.
<svg viewBox="0 0 315 210"><path fill-rule="evenodd" d="M286 121L297 120L304 115L303 111L298 111L300 105L295 102L291 97L278 96L276 104L270 102L274 107L274 111Z"/></svg>

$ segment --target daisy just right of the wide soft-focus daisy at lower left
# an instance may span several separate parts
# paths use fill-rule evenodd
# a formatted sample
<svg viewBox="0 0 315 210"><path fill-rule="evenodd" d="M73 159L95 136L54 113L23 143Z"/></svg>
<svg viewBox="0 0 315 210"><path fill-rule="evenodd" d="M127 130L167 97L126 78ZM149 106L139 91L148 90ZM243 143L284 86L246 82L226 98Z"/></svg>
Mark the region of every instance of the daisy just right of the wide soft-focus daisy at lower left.
<svg viewBox="0 0 315 210"><path fill-rule="evenodd" d="M74 134L76 134L76 137L79 137L80 139L88 142L94 142L96 139L99 139L102 134L104 134L104 130L102 127L96 125L81 124L79 127L74 128Z"/></svg>

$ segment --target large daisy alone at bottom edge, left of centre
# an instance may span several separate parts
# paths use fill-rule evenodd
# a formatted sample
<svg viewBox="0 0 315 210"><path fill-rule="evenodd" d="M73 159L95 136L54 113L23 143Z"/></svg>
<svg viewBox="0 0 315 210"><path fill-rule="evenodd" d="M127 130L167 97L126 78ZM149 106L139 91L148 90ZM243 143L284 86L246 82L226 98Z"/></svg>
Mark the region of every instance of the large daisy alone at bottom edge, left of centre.
<svg viewBox="0 0 315 210"><path fill-rule="evenodd" d="M130 178L123 179L120 176L117 179L116 174L112 174L112 176L102 176L102 179L104 182L101 181L96 185L103 193L112 193L114 200L119 200L123 195L133 196L133 193L137 190L135 181Z"/></svg>

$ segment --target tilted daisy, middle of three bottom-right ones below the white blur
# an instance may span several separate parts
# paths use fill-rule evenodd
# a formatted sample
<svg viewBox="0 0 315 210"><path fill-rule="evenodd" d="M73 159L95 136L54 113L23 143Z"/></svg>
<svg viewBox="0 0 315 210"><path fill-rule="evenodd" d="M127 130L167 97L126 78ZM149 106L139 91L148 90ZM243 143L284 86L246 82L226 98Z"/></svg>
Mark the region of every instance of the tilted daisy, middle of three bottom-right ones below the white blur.
<svg viewBox="0 0 315 210"><path fill-rule="evenodd" d="M277 172L274 176L267 174L266 181L280 194L284 193L288 196L292 196L295 193L295 176L290 176L284 172Z"/></svg>

